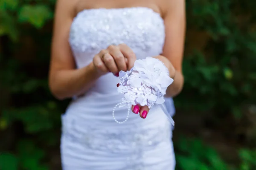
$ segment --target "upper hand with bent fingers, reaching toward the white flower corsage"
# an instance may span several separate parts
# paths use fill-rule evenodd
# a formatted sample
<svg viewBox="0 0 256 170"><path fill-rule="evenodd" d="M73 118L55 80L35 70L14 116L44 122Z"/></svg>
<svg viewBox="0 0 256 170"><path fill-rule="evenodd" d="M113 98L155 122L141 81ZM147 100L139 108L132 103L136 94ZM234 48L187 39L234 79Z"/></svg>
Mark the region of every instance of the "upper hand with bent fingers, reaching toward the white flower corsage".
<svg viewBox="0 0 256 170"><path fill-rule="evenodd" d="M136 56L125 44L110 45L93 58L93 65L99 74L112 72L118 77L119 71L128 71L134 66Z"/></svg>

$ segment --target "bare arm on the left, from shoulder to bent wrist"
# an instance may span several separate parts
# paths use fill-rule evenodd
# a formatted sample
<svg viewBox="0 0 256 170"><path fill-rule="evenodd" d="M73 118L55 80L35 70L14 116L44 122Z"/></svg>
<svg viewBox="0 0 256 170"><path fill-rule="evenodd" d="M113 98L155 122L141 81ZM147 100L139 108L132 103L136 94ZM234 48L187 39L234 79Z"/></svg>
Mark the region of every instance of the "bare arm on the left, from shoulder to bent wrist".
<svg viewBox="0 0 256 170"><path fill-rule="evenodd" d="M99 77L93 63L76 69L68 43L76 0L57 0L52 37L49 88L57 99L65 99L87 91Z"/></svg>

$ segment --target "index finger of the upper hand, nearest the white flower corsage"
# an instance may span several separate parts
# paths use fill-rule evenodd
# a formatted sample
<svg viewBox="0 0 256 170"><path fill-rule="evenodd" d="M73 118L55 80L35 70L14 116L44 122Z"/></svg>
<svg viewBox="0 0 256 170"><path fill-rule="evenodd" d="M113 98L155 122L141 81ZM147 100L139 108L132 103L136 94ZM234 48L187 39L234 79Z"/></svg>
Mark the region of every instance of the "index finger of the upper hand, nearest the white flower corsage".
<svg viewBox="0 0 256 170"><path fill-rule="evenodd" d="M134 54L132 49L125 44L120 44L119 49L124 57L128 59L128 70L130 70L134 66L136 55Z"/></svg>

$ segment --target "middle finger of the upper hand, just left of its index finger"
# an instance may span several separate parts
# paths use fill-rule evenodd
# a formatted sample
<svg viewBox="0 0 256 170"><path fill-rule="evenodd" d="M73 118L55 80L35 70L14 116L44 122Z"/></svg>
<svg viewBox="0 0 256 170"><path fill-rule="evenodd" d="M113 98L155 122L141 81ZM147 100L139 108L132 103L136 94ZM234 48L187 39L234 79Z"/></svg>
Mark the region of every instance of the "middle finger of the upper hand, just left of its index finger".
<svg viewBox="0 0 256 170"><path fill-rule="evenodd" d="M122 54L122 52L119 50L119 48L117 46L114 45L110 45L108 47L108 51L111 54L111 56L114 58L117 68L119 69L119 71L127 71L127 66L125 63L125 57Z"/></svg>

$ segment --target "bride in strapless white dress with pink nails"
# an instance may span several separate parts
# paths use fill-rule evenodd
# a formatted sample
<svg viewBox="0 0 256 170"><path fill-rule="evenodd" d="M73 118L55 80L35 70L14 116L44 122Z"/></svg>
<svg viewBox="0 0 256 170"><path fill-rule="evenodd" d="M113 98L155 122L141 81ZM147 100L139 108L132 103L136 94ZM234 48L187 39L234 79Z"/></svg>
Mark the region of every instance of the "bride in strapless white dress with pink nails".
<svg viewBox="0 0 256 170"><path fill-rule="evenodd" d="M172 125L159 105L130 105L118 124L113 108L119 71L153 57L174 82L166 108L183 88L185 0L57 0L49 87L57 99L73 98L62 115L64 170L174 170ZM117 108L124 120L127 108ZM143 119L142 119L143 118Z"/></svg>

